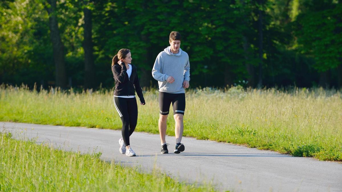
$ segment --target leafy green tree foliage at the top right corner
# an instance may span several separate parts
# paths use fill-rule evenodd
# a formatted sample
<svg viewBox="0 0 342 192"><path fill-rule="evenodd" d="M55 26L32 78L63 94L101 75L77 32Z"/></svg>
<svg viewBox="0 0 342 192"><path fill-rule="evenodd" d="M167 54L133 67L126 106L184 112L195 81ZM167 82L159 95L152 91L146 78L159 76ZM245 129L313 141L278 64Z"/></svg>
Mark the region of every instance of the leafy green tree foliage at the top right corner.
<svg viewBox="0 0 342 192"><path fill-rule="evenodd" d="M304 0L301 10L295 29L298 49L314 58L313 67L320 72L319 85L326 87L330 84L330 74L335 72L331 69L337 69L337 79L342 76L339 70L342 63L342 3Z"/></svg>

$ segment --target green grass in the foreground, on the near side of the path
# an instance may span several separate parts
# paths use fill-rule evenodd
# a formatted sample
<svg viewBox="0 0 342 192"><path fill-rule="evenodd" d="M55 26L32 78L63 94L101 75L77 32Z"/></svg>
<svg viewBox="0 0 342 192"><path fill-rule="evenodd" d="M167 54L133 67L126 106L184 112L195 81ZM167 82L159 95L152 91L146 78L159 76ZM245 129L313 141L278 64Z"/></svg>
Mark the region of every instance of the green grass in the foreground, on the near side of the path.
<svg viewBox="0 0 342 192"><path fill-rule="evenodd" d="M0 191L213 191L0 133Z"/></svg>

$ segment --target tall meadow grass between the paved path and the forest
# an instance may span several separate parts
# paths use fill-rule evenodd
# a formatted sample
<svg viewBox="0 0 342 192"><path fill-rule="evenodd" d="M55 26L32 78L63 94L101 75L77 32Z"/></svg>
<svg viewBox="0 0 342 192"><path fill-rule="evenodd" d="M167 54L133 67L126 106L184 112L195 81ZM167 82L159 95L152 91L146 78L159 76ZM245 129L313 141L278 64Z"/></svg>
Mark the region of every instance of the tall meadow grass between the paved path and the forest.
<svg viewBox="0 0 342 192"><path fill-rule="evenodd" d="M158 133L158 91L145 91L144 97L136 131ZM0 106L0 121L121 129L112 91L36 92L2 85ZM183 135L342 161L341 106L341 91L321 88L187 90ZM174 135L172 115L167 134Z"/></svg>

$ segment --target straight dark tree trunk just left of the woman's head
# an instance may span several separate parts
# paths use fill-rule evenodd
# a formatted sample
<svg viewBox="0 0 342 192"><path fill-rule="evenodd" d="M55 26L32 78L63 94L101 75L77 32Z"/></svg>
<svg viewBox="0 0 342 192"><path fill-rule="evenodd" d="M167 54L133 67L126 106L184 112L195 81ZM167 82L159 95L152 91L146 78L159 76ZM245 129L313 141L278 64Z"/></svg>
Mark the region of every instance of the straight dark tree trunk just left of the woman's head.
<svg viewBox="0 0 342 192"><path fill-rule="evenodd" d="M85 1L84 5L86 5ZM95 88L94 74L94 57L93 57L93 42L92 42L92 20L91 10L87 7L83 9L84 13L84 88Z"/></svg>

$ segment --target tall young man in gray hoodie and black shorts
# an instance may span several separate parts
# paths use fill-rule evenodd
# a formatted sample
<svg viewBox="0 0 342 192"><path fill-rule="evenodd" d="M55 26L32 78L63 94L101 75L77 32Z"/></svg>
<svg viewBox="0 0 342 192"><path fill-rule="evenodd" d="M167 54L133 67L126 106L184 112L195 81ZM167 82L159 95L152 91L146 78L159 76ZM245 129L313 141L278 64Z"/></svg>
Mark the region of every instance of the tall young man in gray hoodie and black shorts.
<svg viewBox="0 0 342 192"><path fill-rule="evenodd" d="M161 153L169 153L165 140L166 122L170 104L173 107L175 121L176 146L174 153L179 154L185 150L182 141L183 116L185 111L185 88L189 87L190 63L188 54L181 46L181 34L172 31L169 38L170 46L160 52L152 69L152 76L159 85L159 135Z"/></svg>

